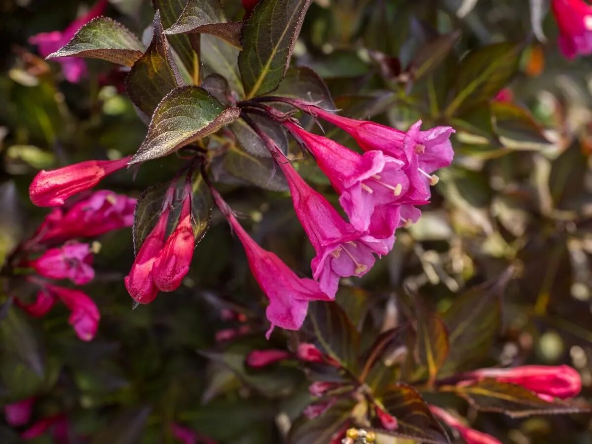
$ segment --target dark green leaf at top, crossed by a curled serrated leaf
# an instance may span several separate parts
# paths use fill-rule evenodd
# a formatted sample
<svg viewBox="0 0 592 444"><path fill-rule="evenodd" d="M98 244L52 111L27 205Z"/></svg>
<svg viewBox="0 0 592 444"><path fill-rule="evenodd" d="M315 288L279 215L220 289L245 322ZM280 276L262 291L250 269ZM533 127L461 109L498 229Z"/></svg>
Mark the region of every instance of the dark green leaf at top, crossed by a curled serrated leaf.
<svg viewBox="0 0 592 444"><path fill-rule="evenodd" d="M160 12L162 25L165 29L170 28L183 13L187 0L152 0L155 9ZM197 83L197 73L199 72L197 53L195 53L191 44L191 38L184 34L168 36L170 46L172 46L181 65L185 67L188 78Z"/></svg>

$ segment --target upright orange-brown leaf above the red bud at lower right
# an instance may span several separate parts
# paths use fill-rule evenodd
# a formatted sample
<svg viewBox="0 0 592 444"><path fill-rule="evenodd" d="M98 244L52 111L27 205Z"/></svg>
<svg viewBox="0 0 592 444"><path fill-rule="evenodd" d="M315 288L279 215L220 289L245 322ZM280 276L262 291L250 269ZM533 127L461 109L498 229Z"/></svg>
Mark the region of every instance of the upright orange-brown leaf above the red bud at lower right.
<svg viewBox="0 0 592 444"><path fill-rule="evenodd" d="M417 301L416 352L419 362L427 366L429 382L433 382L449 353L448 329L437 313Z"/></svg>

